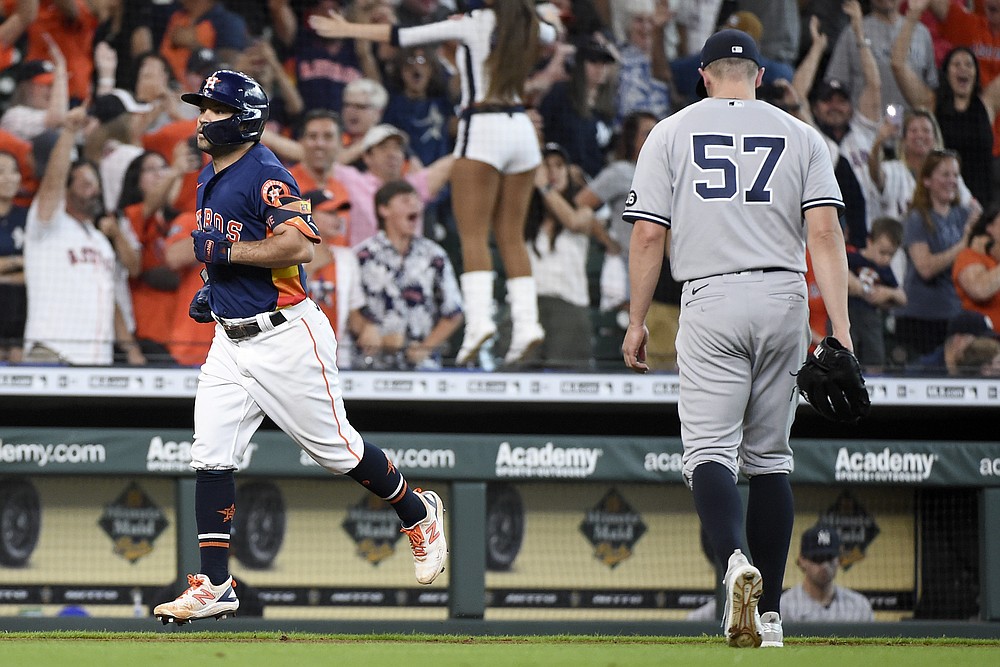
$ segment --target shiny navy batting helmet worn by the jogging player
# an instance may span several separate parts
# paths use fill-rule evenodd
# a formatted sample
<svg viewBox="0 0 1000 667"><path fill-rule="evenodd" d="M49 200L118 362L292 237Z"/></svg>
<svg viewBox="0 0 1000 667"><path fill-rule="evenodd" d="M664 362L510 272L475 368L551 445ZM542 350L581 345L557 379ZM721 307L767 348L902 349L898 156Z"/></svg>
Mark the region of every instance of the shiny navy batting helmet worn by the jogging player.
<svg viewBox="0 0 1000 667"><path fill-rule="evenodd" d="M220 69L209 74L197 93L184 93L181 99L197 107L212 101L230 107L230 118L206 123L202 134L216 146L260 141L267 123L267 95L260 84L243 72Z"/></svg>

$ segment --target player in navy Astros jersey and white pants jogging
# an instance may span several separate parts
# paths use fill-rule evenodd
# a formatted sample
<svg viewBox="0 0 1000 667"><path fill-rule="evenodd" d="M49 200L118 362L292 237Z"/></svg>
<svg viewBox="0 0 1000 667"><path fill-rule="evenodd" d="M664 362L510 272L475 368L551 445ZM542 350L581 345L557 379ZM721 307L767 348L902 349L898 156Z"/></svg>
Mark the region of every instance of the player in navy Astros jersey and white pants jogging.
<svg viewBox="0 0 1000 667"><path fill-rule="evenodd" d="M441 499L410 489L347 419L337 341L304 288L302 265L320 236L295 180L259 143L267 96L245 74L220 70L181 99L200 109L198 148L212 157L198 177L199 226L191 234L208 280L191 316L217 324L198 377L191 446L201 572L188 575L190 587L154 615L180 624L239 608L228 569L238 511L234 472L265 414L321 466L392 504L417 581L431 583L447 555Z"/></svg>

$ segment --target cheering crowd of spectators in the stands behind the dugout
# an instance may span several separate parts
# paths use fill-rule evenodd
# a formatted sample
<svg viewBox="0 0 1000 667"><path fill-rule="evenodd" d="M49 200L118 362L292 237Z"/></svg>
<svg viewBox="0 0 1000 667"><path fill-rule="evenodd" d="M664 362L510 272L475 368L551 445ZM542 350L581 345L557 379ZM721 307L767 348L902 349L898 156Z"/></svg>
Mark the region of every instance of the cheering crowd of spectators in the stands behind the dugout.
<svg viewBox="0 0 1000 667"><path fill-rule="evenodd" d="M342 367L454 365L455 45L325 39L309 17L416 26L483 4L2 3L0 362L203 361L213 327L186 311L200 282L188 234L206 161L196 110L178 102L225 67L267 92L263 142L312 201L325 243L309 284ZM701 45L730 27L762 46L758 96L829 145L861 363L1000 375L1000 0L542 4L559 37L523 95L544 146L524 243L547 340L527 366L620 367L630 232L620 213L635 158L658 120L698 100ZM664 272L654 370L673 370L678 302ZM821 306L815 339L826 334ZM489 354L476 363L491 368Z"/></svg>

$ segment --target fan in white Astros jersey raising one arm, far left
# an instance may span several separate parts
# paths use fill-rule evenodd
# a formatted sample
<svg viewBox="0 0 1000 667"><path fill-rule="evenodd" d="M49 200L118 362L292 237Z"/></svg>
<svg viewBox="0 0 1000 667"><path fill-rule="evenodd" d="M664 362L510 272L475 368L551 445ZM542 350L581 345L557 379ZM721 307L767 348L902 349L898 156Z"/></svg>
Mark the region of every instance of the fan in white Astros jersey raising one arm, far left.
<svg viewBox="0 0 1000 667"><path fill-rule="evenodd" d="M72 162L76 134L86 123L82 107L67 113L28 209L26 361L91 366L113 359L116 258L134 259L136 251L113 216L95 224L103 210L97 167Z"/></svg>

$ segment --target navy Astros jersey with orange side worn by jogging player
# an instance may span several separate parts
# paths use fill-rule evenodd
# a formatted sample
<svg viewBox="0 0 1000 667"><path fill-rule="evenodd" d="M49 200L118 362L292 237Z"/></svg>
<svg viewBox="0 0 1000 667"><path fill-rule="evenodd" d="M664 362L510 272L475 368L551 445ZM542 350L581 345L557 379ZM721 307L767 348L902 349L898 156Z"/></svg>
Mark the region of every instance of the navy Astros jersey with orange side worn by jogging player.
<svg viewBox="0 0 1000 667"><path fill-rule="evenodd" d="M254 145L234 164L215 173L210 163L198 175L198 224L214 225L231 242L261 241L278 225L293 225L320 242L309 202L270 149ZM219 317L251 317L293 306L306 298L301 264L268 269L245 264L209 264L209 305Z"/></svg>

